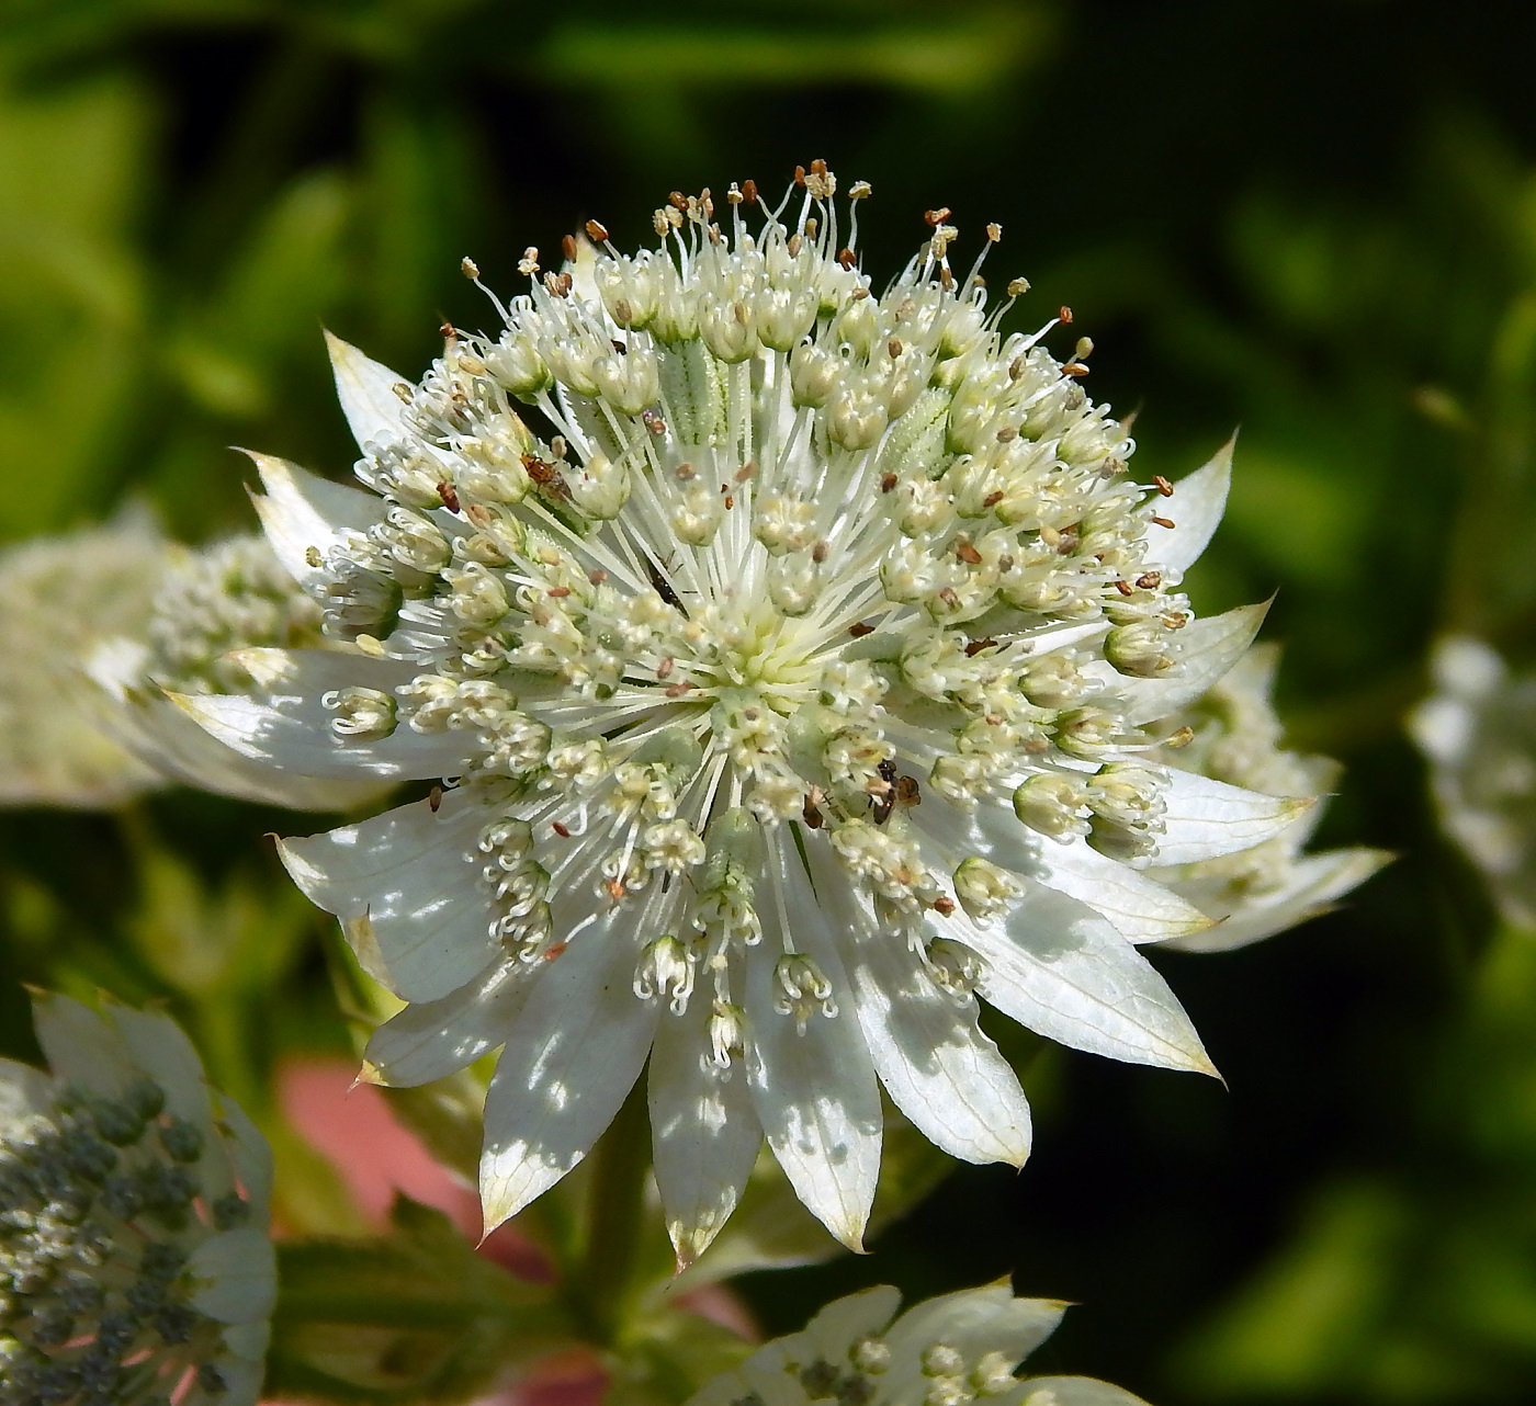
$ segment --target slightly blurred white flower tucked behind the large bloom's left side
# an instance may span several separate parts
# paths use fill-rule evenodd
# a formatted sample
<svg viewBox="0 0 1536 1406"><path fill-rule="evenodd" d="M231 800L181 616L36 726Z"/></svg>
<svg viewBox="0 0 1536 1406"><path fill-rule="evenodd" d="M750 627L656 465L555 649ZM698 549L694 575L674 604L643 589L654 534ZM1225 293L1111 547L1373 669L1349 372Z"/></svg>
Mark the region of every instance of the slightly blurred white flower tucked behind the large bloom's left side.
<svg viewBox="0 0 1536 1406"><path fill-rule="evenodd" d="M166 780L296 810L344 810L376 798L367 781L278 772L215 741L167 694L240 694L241 649L324 643L319 606L266 539L232 537L177 551L137 634L98 648L91 674L112 697L103 726Z"/></svg>

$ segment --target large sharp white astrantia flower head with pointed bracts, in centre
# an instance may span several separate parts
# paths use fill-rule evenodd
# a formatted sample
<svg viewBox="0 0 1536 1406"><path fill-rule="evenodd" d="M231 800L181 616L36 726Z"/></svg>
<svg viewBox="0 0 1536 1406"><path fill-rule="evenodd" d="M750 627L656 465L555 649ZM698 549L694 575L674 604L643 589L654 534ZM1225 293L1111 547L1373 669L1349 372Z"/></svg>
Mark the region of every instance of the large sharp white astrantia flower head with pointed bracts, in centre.
<svg viewBox="0 0 1536 1406"><path fill-rule="evenodd" d="M1210 1071L1137 952L1212 919L1144 873L1307 807L1183 771L1144 724L1243 654L1261 608L1180 592L1229 450L1178 485L1023 292L957 275L948 212L883 293L868 187L823 166L596 241L409 385L332 339L364 490L257 456L284 566L350 649L246 651L266 692L184 697L306 775L445 778L283 844L409 1002L366 1078L502 1047L488 1225L593 1145L650 1059L679 1259L762 1136L857 1246L880 1085L938 1147L1021 1163L1029 1110L978 996L1117 1059ZM983 253L1000 232L988 229ZM476 273L473 266L467 272ZM1063 319L1066 318L1063 310Z"/></svg>

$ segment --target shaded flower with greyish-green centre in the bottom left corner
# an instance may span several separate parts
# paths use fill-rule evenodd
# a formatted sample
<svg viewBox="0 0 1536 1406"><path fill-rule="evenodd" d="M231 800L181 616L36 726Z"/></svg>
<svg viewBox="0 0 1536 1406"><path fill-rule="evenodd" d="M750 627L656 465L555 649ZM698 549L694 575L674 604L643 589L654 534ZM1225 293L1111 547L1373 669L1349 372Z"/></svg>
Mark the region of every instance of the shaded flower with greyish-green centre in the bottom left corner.
<svg viewBox="0 0 1536 1406"><path fill-rule="evenodd" d="M35 998L0 1061L0 1403L249 1406L276 1286L270 1156L163 1015Z"/></svg>

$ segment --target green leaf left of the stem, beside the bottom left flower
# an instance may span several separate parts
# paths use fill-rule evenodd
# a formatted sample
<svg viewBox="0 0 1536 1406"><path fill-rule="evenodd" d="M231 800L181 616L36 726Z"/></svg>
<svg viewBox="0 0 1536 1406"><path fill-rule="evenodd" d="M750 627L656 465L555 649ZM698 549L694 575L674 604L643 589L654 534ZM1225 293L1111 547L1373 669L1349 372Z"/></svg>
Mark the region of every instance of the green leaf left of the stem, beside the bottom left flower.
<svg viewBox="0 0 1536 1406"><path fill-rule="evenodd" d="M450 1406L573 1342L547 1289L481 1259L441 1211L399 1197L390 1233L278 1249L267 1394Z"/></svg>

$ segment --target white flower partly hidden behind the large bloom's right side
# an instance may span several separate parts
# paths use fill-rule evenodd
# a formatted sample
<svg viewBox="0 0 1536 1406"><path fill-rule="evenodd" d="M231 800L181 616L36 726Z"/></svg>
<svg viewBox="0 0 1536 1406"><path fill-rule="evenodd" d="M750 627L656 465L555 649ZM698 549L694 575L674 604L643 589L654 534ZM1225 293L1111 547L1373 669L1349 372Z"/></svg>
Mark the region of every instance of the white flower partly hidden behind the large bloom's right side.
<svg viewBox="0 0 1536 1406"><path fill-rule="evenodd" d="M1318 797L1332 790L1339 764L1281 746L1275 712L1276 645L1255 645L1210 691L1170 720L1192 740L1166 754L1180 766L1266 795ZM1326 913L1336 899L1392 860L1379 849L1306 853L1322 806L1296 817L1279 835L1252 849L1147 873L1183 893L1215 927L1172 938L1184 952L1227 952Z"/></svg>

